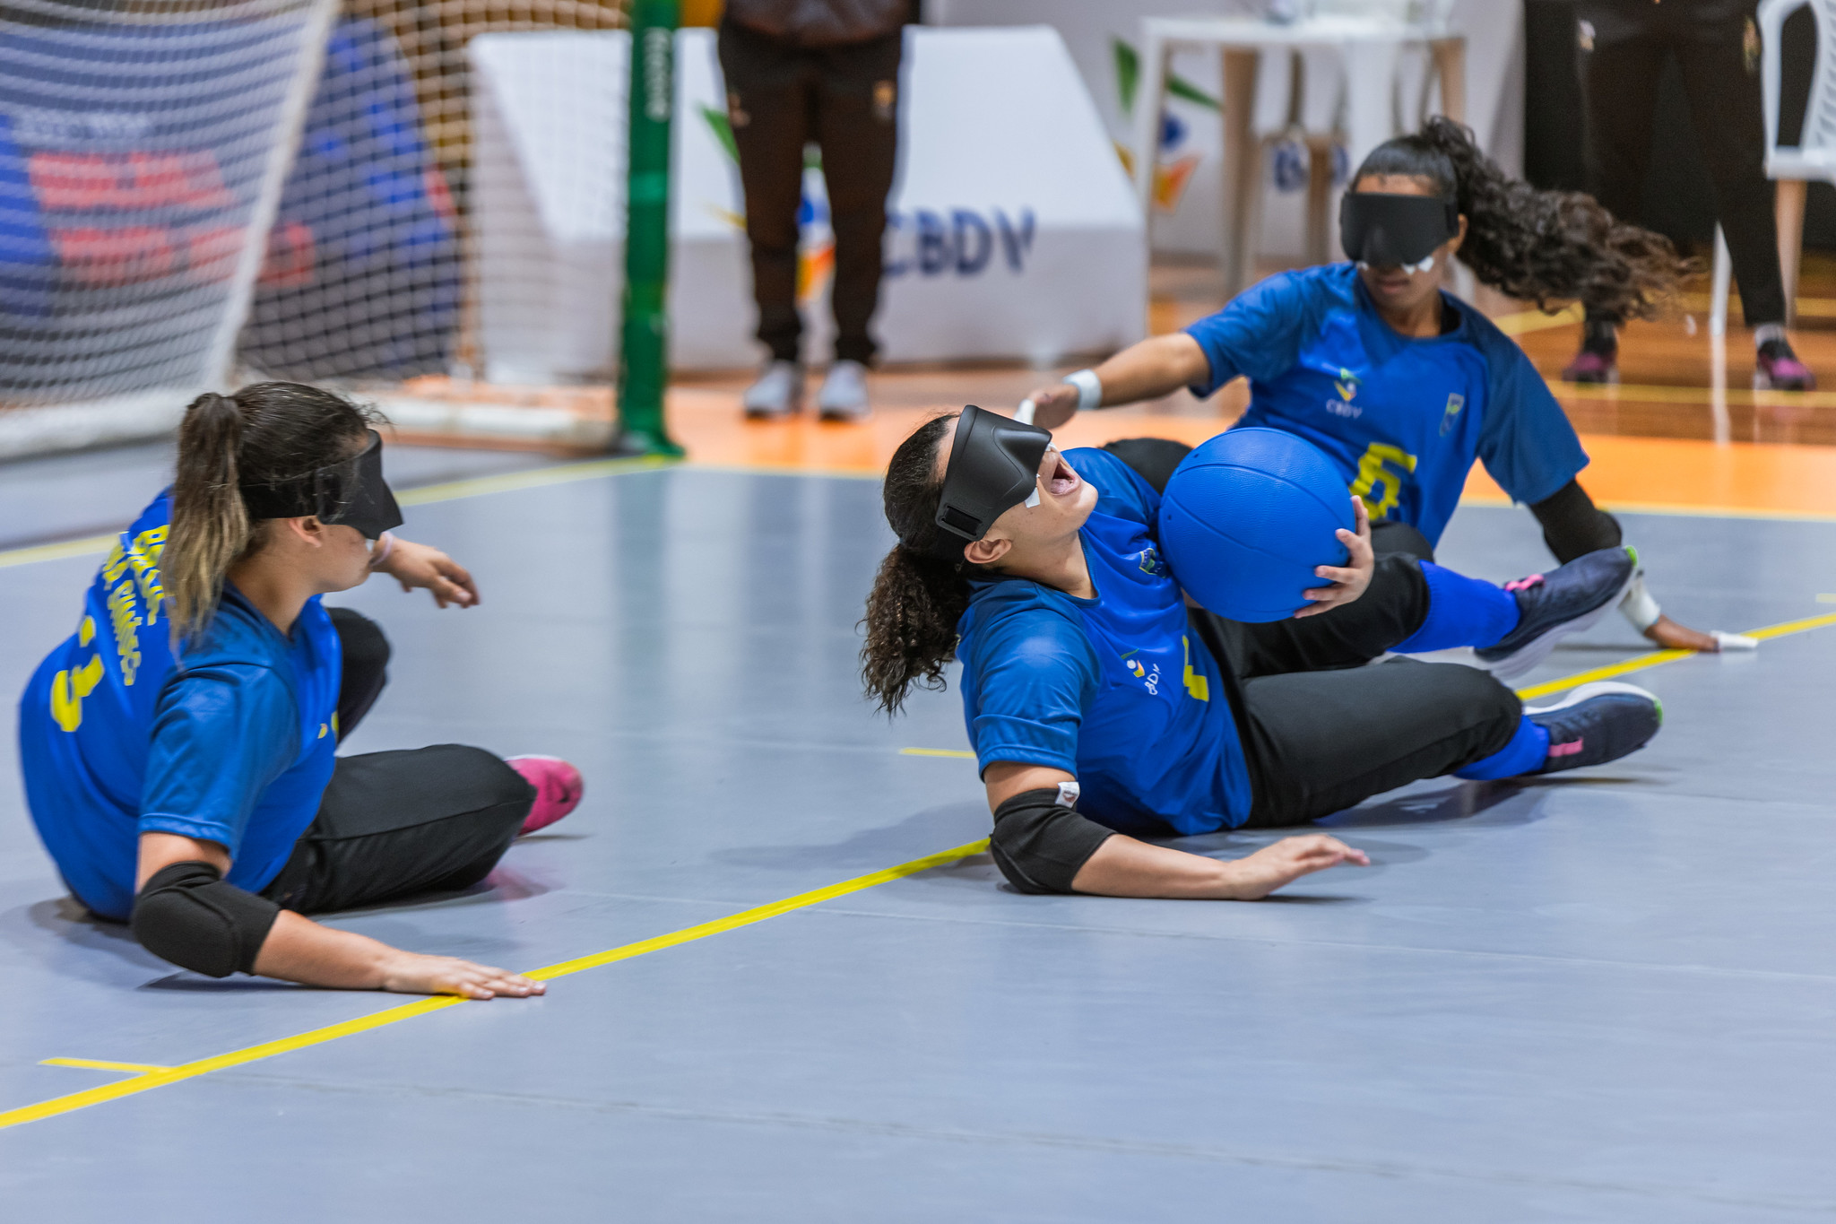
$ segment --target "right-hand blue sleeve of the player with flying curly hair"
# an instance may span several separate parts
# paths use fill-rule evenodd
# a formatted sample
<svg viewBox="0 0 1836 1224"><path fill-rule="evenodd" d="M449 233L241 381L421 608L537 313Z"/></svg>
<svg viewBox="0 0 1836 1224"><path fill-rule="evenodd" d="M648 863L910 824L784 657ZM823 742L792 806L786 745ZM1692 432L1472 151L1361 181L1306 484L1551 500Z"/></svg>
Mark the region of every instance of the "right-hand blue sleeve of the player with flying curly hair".
<svg viewBox="0 0 1836 1224"><path fill-rule="evenodd" d="M1487 369L1480 462L1511 501L1535 505L1553 497L1588 466L1575 428L1509 336L1476 310L1467 314L1467 327Z"/></svg>

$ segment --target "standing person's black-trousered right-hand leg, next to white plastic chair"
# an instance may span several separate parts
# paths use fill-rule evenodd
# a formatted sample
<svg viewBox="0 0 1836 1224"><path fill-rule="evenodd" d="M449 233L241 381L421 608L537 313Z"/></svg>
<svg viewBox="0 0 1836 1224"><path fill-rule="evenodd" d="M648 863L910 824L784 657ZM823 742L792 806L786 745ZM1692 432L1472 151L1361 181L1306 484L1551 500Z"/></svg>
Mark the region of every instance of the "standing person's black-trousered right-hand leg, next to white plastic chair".
<svg viewBox="0 0 1836 1224"><path fill-rule="evenodd" d="M1766 119L1759 62L1748 62L1746 18L1691 20L1678 31L1676 66L1689 97L1689 123L1715 180L1715 215L1728 237L1746 325L1785 325L1779 229L1766 178ZM1783 334L1781 334L1783 338Z"/></svg>

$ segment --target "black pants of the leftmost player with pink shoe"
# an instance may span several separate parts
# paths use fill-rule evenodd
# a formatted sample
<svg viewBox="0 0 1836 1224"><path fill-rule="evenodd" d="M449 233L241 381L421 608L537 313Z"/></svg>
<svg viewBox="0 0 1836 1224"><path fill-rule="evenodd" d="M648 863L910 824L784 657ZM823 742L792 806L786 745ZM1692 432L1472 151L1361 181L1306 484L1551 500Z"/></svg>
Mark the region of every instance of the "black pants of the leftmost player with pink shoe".
<svg viewBox="0 0 1836 1224"><path fill-rule="evenodd" d="M343 644L343 740L382 692L389 642L349 607L332 609L332 626ZM534 796L514 769L463 743L340 756L319 815L263 896L321 914L470 888L509 850Z"/></svg>

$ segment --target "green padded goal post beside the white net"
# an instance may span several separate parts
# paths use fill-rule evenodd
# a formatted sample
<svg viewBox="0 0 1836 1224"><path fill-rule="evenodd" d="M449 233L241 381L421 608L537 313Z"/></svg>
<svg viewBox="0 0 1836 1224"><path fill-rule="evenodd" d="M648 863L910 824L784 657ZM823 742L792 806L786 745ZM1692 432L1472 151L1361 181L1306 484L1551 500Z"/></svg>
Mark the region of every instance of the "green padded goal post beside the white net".
<svg viewBox="0 0 1836 1224"><path fill-rule="evenodd" d="M624 299L619 323L619 435L624 455L681 455L663 424L670 321L670 112L677 0L632 0L632 97L624 174Z"/></svg>

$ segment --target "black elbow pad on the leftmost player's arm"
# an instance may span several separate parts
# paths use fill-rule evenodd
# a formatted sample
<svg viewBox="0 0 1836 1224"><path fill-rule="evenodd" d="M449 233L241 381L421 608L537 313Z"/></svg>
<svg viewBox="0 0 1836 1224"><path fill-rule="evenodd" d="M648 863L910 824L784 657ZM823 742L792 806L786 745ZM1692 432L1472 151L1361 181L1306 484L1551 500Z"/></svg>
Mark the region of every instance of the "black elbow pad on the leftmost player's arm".
<svg viewBox="0 0 1836 1224"><path fill-rule="evenodd" d="M134 938L180 969L211 978L255 973L281 907L268 897L226 885L209 862L160 868L134 897Z"/></svg>

